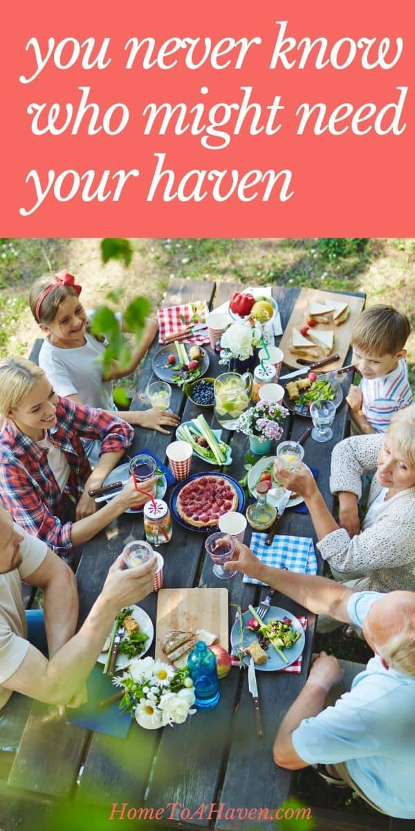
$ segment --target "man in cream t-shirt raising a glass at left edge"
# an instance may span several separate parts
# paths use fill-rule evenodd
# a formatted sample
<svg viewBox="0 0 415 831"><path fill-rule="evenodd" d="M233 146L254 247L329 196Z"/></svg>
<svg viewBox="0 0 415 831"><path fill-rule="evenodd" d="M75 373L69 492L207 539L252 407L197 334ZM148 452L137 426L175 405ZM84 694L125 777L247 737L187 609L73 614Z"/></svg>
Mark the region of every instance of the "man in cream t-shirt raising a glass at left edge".
<svg viewBox="0 0 415 831"><path fill-rule="evenodd" d="M46 543L13 523L0 507L0 710L13 691L47 704L78 706L85 680L120 608L152 590L155 558L138 568L123 568L120 556L80 631L76 632L78 594L71 569ZM27 639L22 602L23 578L44 591L48 658Z"/></svg>

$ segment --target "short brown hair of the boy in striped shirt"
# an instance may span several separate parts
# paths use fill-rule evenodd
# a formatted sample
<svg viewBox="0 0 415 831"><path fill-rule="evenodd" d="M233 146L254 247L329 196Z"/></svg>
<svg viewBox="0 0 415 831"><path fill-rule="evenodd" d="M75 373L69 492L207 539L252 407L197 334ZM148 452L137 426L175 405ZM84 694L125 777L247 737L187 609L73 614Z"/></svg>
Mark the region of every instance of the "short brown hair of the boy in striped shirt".
<svg viewBox="0 0 415 831"><path fill-rule="evenodd" d="M392 306L378 303L359 315L351 344L369 355L396 355L405 346L410 332L411 324L406 315Z"/></svg>

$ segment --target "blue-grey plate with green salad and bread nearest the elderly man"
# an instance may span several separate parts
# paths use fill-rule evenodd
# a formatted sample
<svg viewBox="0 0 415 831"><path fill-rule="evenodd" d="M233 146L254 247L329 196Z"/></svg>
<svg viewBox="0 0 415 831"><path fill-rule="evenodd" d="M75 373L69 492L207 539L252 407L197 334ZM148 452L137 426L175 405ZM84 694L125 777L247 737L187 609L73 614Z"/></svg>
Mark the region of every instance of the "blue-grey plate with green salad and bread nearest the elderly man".
<svg viewBox="0 0 415 831"><path fill-rule="evenodd" d="M291 666L305 647L305 633L300 621L291 612L278 606L271 606L270 611L266 612L265 620L261 620L257 611L257 608L248 607L248 611L233 624L233 651L247 665L251 658L247 647L257 642L266 652L266 661L256 663L256 670L274 672Z"/></svg>

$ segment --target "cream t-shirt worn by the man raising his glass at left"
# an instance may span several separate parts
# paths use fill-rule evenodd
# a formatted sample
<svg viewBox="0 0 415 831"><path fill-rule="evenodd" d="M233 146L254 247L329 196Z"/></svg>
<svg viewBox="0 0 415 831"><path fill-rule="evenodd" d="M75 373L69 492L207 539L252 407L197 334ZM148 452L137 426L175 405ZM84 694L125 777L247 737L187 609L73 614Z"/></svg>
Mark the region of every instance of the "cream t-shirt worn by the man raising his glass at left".
<svg viewBox="0 0 415 831"><path fill-rule="evenodd" d="M2 684L17 671L29 648L22 579L39 568L47 552L47 545L41 539L31 537L16 524L14 528L23 537L22 564L12 572L0 574L0 709L12 695Z"/></svg>

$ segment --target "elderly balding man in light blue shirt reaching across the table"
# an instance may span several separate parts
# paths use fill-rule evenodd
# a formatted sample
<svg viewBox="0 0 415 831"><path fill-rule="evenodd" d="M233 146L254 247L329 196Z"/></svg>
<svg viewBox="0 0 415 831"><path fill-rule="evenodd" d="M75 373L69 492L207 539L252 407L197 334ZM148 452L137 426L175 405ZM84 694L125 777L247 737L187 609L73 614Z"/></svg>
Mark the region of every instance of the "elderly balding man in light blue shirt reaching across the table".
<svg viewBox="0 0 415 831"><path fill-rule="evenodd" d="M367 666L321 652L281 721L274 760L288 770L328 765L378 811L415 819L415 593L354 592L334 580L271 568L246 545L224 568L260 579L310 612L353 623ZM328 698L334 706L328 705Z"/></svg>

